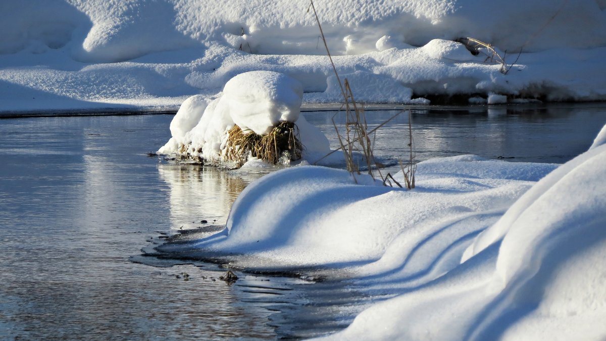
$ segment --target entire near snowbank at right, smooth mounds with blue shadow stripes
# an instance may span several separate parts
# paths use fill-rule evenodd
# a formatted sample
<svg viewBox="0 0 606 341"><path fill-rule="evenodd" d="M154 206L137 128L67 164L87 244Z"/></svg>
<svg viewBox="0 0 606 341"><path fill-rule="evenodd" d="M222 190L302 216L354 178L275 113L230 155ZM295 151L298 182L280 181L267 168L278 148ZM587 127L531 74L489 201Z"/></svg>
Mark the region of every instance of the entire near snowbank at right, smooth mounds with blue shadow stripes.
<svg viewBox="0 0 606 341"><path fill-rule="evenodd" d="M423 161L411 191L281 170L242 192L223 231L157 249L247 269L345 269L356 290L391 297L330 339L603 340L604 131L560 166Z"/></svg>

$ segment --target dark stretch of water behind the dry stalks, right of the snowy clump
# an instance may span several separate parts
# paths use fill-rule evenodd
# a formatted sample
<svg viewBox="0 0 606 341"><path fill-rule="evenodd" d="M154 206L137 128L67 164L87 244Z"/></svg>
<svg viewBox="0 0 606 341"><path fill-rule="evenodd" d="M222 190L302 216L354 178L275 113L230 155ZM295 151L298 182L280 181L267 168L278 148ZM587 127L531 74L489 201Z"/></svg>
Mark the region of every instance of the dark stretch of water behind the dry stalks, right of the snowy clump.
<svg viewBox="0 0 606 341"><path fill-rule="evenodd" d="M373 129L401 110L368 111ZM305 118L339 146L331 117L344 112L308 112ZM606 124L604 104L475 106L411 109L417 161L460 154L509 161L565 163L581 154ZM387 161L408 158L408 115L401 113L376 131L375 155ZM397 171L393 167L391 171Z"/></svg>

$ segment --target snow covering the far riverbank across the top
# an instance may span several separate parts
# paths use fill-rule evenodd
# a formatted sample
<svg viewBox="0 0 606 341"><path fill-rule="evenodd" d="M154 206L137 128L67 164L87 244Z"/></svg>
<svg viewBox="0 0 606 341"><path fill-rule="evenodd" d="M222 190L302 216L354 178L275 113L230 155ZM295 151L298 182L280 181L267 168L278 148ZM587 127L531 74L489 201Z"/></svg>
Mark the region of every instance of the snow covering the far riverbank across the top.
<svg viewBox="0 0 606 341"><path fill-rule="evenodd" d="M31 0L0 4L0 112L175 110L248 71L284 73L304 103L340 100L309 3ZM602 0L325 1L335 67L359 101L606 99ZM492 44L508 64L455 39ZM507 54L505 54L507 51ZM498 97L499 103L504 97ZM480 103L472 100L473 103Z"/></svg>

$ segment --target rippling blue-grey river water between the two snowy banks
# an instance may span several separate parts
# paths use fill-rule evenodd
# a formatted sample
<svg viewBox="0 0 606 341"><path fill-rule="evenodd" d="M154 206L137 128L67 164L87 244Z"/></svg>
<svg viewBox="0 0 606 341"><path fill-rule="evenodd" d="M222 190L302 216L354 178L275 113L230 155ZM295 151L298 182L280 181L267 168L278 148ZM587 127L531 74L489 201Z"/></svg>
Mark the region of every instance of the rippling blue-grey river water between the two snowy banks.
<svg viewBox="0 0 606 341"><path fill-rule="evenodd" d="M369 126L395 113L368 111ZM338 144L334 112L304 115ZM129 261L151 238L225 223L262 176L149 157L171 118L0 120L0 339L276 339L347 326L354 314L339 307L359 297L337 295L339 283L238 273L227 285L208 263ZM564 163L590 146L606 106L415 108L411 118L417 161ZM407 158L407 131L408 115L396 116L378 130L375 154Z"/></svg>

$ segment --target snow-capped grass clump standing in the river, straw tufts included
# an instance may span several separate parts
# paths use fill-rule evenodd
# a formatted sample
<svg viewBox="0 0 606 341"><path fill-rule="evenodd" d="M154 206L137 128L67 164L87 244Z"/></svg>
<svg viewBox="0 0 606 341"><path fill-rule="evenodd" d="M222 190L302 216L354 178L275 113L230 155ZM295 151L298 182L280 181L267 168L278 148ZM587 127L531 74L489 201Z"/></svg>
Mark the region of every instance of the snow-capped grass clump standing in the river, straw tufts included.
<svg viewBox="0 0 606 341"><path fill-rule="evenodd" d="M282 73L241 73L214 100L199 95L185 100L170 123L172 137L158 152L234 166L241 166L249 154L261 157L265 149L281 149L265 158L271 163L279 157L298 160L302 152L305 156L326 153L327 138L299 116L302 95L301 83ZM273 140L264 143L265 137ZM283 137L287 140L280 141ZM251 145L259 141L264 150Z"/></svg>

